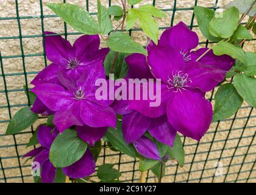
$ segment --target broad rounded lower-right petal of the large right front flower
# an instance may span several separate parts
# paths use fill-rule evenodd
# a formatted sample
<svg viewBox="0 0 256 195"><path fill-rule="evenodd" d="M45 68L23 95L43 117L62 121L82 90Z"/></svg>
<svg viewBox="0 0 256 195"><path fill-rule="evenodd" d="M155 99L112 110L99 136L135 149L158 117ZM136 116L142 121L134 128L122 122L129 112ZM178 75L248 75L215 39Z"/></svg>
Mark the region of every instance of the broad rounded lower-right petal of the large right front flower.
<svg viewBox="0 0 256 195"><path fill-rule="evenodd" d="M212 104L196 90L182 90L181 93L172 93L167 116L174 129L199 141L212 122Z"/></svg>

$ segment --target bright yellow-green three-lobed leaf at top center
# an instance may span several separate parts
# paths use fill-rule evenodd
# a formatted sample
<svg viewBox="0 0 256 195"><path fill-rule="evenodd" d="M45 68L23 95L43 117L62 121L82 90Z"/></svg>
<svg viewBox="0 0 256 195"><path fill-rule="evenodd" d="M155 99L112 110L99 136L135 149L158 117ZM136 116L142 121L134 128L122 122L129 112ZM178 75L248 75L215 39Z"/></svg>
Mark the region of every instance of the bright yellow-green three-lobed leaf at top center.
<svg viewBox="0 0 256 195"><path fill-rule="evenodd" d="M127 15L126 29L131 29L136 23L137 19L140 21L140 27L144 33L154 41L158 42L158 23L153 16L157 18L164 18L165 12L156 9L153 5L142 5L139 9L130 9Z"/></svg>

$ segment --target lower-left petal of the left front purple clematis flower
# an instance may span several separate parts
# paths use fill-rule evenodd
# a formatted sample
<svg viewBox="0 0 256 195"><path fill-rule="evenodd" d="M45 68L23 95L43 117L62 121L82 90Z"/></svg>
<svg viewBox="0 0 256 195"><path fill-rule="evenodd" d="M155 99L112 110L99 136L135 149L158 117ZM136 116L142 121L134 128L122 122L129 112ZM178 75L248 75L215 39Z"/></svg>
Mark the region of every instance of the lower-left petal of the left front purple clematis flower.
<svg viewBox="0 0 256 195"><path fill-rule="evenodd" d="M60 132L73 125L84 125L84 122L80 118L80 101L76 101L65 109L56 112L53 122Z"/></svg>

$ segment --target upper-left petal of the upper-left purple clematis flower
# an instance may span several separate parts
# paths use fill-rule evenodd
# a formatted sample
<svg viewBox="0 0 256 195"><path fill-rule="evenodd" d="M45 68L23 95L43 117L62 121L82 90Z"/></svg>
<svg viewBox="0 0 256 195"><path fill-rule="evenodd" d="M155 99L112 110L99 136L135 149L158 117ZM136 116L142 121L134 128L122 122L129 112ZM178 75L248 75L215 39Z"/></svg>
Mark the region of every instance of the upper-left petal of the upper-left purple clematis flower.
<svg viewBox="0 0 256 195"><path fill-rule="evenodd" d="M44 32L45 35L54 34L53 32ZM73 47L69 41L59 35L45 37L46 56L57 65L65 65L66 60L73 58Z"/></svg>

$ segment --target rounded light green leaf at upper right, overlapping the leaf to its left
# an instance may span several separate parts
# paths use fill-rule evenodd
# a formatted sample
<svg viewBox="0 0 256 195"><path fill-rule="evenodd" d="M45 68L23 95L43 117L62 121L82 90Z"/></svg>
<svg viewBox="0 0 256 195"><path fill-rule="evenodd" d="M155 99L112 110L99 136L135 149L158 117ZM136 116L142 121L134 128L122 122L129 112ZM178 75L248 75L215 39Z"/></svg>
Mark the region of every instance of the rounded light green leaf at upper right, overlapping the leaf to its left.
<svg viewBox="0 0 256 195"><path fill-rule="evenodd" d="M214 37L229 38L238 27L239 11L235 7L230 7L221 13L215 14L210 21L209 32Z"/></svg>

